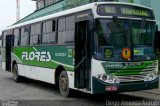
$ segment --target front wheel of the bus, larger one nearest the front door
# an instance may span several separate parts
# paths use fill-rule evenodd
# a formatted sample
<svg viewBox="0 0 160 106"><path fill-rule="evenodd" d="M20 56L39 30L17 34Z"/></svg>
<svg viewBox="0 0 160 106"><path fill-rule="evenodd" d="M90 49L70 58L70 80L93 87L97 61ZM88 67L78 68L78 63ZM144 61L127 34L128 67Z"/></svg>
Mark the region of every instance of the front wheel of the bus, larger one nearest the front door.
<svg viewBox="0 0 160 106"><path fill-rule="evenodd" d="M59 90L63 96L71 96L71 89L69 88L69 80L66 71L62 71L59 76Z"/></svg>

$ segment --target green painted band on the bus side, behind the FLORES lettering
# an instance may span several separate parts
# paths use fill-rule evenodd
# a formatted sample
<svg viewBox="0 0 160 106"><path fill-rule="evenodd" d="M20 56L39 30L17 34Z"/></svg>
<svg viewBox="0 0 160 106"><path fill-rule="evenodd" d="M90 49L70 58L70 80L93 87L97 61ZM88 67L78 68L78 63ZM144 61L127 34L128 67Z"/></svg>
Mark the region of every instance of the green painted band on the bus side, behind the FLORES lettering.
<svg viewBox="0 0 160 106"><path fill-rule="evenodd" d="M19 58L19 60L21 60L22 64L52 68L52 69L55 69L59 65L62 65L66 70L73 71L74 70L73 56L71 56L68 51L73 51L73 49L66 48L64 46L17 47L13 49L13 53ZM31 52L39 53L38 56L41 56L40 53L49 52L51 60L48 62L38 61L37 57L35 57L33 60L30 60L29 54ZM22 58L23 53L28 53L28 55ZM43 58L44 56L45 54L43 55Z"/></svg>

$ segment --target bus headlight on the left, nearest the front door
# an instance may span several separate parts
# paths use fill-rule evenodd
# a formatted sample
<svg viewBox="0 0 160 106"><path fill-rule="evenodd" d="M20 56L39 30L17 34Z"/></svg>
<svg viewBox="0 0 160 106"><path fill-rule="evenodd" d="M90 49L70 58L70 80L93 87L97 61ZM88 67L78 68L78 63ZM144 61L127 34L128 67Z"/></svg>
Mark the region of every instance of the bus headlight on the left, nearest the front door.
<svg viewBox="0 0 160 106"><path fill-rule="evenodd" d="M112 75L101 74L101 75L97 75L96 78L106 83L120 83L118 79Z"/></svg>

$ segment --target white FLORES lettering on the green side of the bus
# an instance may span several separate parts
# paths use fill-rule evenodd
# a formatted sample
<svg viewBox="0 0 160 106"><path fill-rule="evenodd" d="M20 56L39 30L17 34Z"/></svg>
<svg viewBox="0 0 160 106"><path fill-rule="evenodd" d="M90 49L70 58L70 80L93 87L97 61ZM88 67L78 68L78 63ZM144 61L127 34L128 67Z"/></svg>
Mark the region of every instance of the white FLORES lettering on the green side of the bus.
<svg viewBox="0 0 160 106"><path fill-rule="evenodd" d="M22 52L22 60L49 62L51 61L51 55L50 52Z"/></svg>

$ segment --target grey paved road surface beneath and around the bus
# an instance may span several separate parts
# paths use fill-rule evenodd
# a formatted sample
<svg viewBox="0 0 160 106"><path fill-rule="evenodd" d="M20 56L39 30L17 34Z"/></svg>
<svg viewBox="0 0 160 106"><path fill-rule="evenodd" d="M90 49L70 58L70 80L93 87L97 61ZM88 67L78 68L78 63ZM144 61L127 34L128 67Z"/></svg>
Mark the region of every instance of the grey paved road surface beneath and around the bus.
<svg viewBox="0 0 160 106"><path fill-rule="evenodd" d="M113 105L124 101L126 103L157 101L154 103L158 106L160 104L160 89L108 95L90 95L75 92L74 97L66 98L60 95L58 88L54 85L29 79L25 79L21 83L15 83L11 73L0 69L0 100L3 100L0 102L0 106L3 102L6 103L5 100L21 100L18 104L23 104L23 106L24 104L25 106L34 106L37 103L39 106L53 106L53 104L54 106L105 106L106 104L112 103ZM128 106L128 104L125 105ZM3 104L2 106L9 105Z"/></svg>

